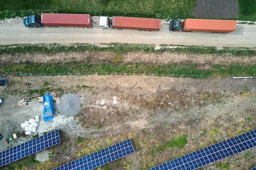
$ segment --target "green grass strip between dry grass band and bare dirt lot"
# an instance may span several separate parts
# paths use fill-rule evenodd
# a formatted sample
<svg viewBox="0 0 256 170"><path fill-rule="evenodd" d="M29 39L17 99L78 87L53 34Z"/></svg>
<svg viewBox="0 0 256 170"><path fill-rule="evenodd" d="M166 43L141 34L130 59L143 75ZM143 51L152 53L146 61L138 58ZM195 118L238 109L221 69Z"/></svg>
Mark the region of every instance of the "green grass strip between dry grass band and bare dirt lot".
<svg viewBox="0 0 256 170"><path fill-rule="evenodd" d="M53 64L9 64L1 68L0 74L45 74L45 73L126 73L126 74L152 74L152 75L189 75L193 78L211 75L231 75L231 76L248 76L255 75L256 65L212 65L210 70L198 68L195 64L171 64L171 65L154 65L144 63L53 63ZM197 77L198 76L198 77ZM79 86L80 87L80 86ZM78 88L78 87L77 87ZM45 91L52 91L50 87L40 89L29 89L28 94L44 94Z"/></svg>

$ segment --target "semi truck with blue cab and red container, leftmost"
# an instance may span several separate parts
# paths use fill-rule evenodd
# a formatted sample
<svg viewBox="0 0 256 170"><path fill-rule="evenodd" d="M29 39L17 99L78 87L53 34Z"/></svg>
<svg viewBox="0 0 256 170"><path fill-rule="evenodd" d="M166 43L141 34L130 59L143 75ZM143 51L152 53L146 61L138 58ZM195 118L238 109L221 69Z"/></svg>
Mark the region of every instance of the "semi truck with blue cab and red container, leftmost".
<svg viewBox="0 0 256 170"><path fill-rule="evenodd" d="M89 14L41 13L41 16L29 15L23 22L26 27L92 27L92 17Z"/></svg>

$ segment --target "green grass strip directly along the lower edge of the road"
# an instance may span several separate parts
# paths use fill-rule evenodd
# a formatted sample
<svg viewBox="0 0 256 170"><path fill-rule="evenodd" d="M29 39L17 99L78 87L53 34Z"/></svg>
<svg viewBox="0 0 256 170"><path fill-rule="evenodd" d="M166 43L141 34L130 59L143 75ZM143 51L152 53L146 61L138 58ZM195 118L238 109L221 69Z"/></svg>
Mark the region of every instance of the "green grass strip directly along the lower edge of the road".
<svg viewBox="0 0 256 170"><path fill-rule="evenodd" d="M112 62L122 62L122 55L120 53L128 51L146 51L146 52L177 52L177 53L193 53L193 54L233 54L233 55L249 55L255 56L255 48L246 47L223 47L217 50L215 46L186 46L174 44L161 44L160 49L155 50L155 44L128 44L128 43L106 43L106 47L95 46L94 44L72 44L70 46L61 46L59 44L10 44L0 45L0 54L13 53L61 53L70 51L113 51L119 54L115 55ZM177 46L176 48L169 48L170 46ZM29 63L27 61L26 63Z"/></svg>

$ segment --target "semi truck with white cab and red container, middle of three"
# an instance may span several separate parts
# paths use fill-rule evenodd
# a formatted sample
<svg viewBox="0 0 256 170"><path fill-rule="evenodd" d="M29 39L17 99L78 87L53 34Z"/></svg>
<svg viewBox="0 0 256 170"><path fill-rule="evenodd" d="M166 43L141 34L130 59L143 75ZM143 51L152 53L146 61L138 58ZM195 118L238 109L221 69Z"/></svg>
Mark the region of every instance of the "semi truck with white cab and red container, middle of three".
<svg viewBox="0 0 256 170"><path fill-rule="evenodd" d="M160 19L155 18L113 16L112 19L110 19L108 16L101 16L99 19L99 26L103 29L137 29L140 31L159 31L160 24Z"/></svg>

